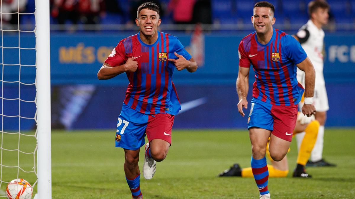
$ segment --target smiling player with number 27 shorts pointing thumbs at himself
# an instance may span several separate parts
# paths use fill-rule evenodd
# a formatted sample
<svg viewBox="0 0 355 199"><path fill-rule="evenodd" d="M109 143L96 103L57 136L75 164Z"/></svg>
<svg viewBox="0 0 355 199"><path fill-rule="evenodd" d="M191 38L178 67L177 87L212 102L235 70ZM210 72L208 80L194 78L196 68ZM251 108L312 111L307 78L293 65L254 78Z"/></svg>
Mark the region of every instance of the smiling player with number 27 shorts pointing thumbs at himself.
<svg viewBox="0 0 355 199"><path fill-rule="evenodd" d="M110 79L125 72L130 81L115 140L125 152L124 171L133 198L143 198L138 160L144 137L148 137L143 164L147 180L171 146L174 115L181 109L171 79L174 68L197 70L196 61L178 38L158 31L161 22L157 5L140 5L136 19L140 32L122 39L97 74L99 79Z"/></svg>

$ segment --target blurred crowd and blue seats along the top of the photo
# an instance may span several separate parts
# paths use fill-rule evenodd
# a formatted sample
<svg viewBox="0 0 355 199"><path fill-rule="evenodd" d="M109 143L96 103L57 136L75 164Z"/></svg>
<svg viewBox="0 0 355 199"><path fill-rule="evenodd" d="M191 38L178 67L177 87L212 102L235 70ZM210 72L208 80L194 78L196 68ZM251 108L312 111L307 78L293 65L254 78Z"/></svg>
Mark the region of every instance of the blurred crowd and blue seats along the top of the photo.
<svg viewBox="0 0 355 199"><path fill-rule="evenodd" d="M3 24L34 24L35 0L2 0ZM164 24L248 24L257 0L50 0L51 24L133 24L140 4L160 7ZM304 24L310 0L268 0L282 24ZM355 0L327 0L331 22L355 23ZM20 16L20 17L18 17Z"/></svg>

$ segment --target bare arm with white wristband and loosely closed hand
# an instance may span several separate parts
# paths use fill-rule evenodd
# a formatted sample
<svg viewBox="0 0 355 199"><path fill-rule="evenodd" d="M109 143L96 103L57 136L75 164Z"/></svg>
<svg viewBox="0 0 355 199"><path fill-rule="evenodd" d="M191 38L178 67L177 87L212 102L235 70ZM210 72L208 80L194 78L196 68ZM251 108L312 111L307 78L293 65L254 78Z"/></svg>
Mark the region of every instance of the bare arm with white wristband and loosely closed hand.
<svg viewBox="0 0 355 199"><path fill-rule="evenodd" d="M316 72L308 57L296 66L305 72L305 104L302 107L302 113L310 117L312 114L316 113L316 109L312 104Z"/></svg>

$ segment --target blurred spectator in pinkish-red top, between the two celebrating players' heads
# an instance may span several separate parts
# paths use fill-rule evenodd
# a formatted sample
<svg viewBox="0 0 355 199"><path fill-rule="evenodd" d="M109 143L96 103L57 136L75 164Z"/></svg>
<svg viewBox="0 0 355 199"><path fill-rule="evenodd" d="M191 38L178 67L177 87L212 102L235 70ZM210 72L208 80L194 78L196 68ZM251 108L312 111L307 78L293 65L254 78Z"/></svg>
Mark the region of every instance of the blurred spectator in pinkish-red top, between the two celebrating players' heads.
<svg viewBox="0 0 355 199"><path fill-rule="evenodd" d="M195 0L171 0L168 10L173 14L174 23L192 23L192 12Z"/></svg>

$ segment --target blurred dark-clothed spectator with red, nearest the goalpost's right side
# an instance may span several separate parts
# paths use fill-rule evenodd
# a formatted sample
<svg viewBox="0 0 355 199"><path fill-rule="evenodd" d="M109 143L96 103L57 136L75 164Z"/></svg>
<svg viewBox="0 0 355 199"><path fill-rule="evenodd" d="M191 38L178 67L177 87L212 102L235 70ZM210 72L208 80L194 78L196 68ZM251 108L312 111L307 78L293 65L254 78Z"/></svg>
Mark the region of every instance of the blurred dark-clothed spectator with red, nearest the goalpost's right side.
<svg viewBox="0 0 355 199"><path fill-rule="evenodd" d="M77 0L52 0L51 16L59 24L64 24L67 20L77 24L77 3Z"/></svg>

